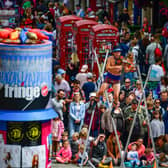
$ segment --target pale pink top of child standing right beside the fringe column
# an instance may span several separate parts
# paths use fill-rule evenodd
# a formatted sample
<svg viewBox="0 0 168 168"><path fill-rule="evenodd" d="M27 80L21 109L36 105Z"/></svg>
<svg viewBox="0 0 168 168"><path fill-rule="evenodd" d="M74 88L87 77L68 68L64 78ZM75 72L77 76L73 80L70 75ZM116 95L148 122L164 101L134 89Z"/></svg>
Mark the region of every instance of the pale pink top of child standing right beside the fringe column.
<svg viewBox="0 0 168 168"><path fill-rule="evenodd" d="M61 120L51 121L52 136L56 141L61 140L62 133L64 132L64 123Z"/></svg>

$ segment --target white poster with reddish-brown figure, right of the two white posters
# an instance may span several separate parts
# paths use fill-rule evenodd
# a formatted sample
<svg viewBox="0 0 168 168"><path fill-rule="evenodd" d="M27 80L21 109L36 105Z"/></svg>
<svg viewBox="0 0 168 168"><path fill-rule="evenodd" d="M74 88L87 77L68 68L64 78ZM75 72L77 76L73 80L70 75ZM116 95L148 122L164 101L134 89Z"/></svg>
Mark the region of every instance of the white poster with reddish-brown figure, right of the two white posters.
<svg viewBox="0 0 168 168"><path fill-rule="evenodd" d="M45 145L22 148L22 167L45 168Z"/></svg>

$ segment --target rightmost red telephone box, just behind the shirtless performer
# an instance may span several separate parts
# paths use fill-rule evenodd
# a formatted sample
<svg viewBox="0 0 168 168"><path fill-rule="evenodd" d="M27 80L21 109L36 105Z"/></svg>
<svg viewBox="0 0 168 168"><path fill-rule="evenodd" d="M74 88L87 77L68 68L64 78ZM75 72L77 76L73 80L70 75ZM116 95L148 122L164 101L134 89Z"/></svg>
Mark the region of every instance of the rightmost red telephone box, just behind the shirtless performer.
<svg viewBox="0 0 168 168"><path fill-rule="evenodd" d="M106 50L109 50L109 55L112 54L112 49L114 46L116 46L119 42L119 31L116 27L112 25L106 25L106 24L98 24L91 28L90 32L90 48L92 49L92 58L93 58L93 64L92 68L93 71L98 74L98 68L97 63L95 60L94 50L96 51L96 54L99 59L99 63L103 63L105 56L106 56Z"/></svg>

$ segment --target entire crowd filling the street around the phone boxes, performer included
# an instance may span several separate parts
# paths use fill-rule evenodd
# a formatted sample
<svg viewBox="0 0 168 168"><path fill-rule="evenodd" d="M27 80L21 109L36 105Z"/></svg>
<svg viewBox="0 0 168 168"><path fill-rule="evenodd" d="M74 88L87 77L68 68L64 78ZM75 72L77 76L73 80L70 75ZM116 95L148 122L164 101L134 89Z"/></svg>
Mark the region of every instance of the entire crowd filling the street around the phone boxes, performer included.
<svg viewBox="0 0 168 168"><path fill-rule="evenodd" d="M76 5L71 11L66 3L49 2L46 6L42 0L37 4L25 1L20 12L22 27L54 32L58 17L74 14L113 24L120 31L119 44L107 60L104 81L88 65L80 65L74 53L66 69L54 67L51 104L58 117L52 120L52 157L59 163L80 165L83 160L84 165L95 167L120 165L134 123L125 164L152 166L156 150L159 165L168 167L167 37L154 33L147 18L141 29L132 33L126 8L114 23L106 11L98 16L91 8Z"/></svg>

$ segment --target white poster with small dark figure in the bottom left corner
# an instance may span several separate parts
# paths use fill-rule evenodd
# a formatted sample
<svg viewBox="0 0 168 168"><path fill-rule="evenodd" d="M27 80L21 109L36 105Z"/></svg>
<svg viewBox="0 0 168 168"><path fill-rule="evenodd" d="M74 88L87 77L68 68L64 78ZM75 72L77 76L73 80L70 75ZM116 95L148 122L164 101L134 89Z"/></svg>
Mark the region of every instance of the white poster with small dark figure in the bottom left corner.
<svg viewBox="0 0 168 168"><path fill-rule="evenodd" d="M0 167L21 167L21 146L0 145Z"/></svg>

